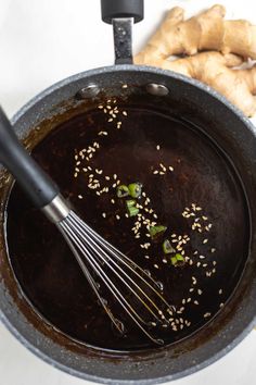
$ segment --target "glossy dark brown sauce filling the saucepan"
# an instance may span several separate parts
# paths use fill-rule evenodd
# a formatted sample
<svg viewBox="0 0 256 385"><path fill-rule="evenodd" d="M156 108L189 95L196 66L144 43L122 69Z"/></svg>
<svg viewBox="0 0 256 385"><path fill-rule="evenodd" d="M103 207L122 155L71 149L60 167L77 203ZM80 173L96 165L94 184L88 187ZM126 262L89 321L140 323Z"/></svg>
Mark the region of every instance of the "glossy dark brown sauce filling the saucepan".
<svg viewBox="0 0 256 385"><path fill-rule="evenodd" d="M177 331L157 330L157 336L169 344L202 327L219 311L220 303L227 301L238 284L247 257L245 197L233 167L192 125L138 105L123 107L121 110L126 110L128 116L121 115L120 129L116 128L116 122L107 122L110 116L102 110L93 110L61 124L36 146L33 156L59 184L80 216L149 270L164 285L165 297L170 303L178 310L184 308L176 318L188 320L189 326ZM99 136L101 131L108 135ZM99 197L88 188L88 174L80 172L74 177L75 153L94 141L101 148L89 164L104 171L97 175L98 179L111 186L114 181L110 183L104 176L113 178L117 174L124 184L141 182L143 191L151 199L149 208L153 207L158 215L157 224L168 226L165 237L169 238L171 233L189 235L191 240L185 254L193 260L192 265L185 263L174 268L169 260L163 263L159 243L152 244L149 250L142 249L140 245L149 238L143 232L141 238L135 238L131 233L135 219L125 216L124 200L116 198L116 188L110 187L107 194ZM84 160L79 167L86 163ZM159 163L172 166L174 172L153 174L154 170L159 170ZM114 204L111 199L115 200ZM209 232L200 234L191 229L191 219L182 216L184 208L193 202L203 209L200 215L207 216L207 223L213 224ZM101 285L102 296L124 322L127 335L121 336L113 330L59 231L33 208L16 184L7 213L11 263L36 311L72 338L98 348L131 350L152 346ZM208 241L203 244L205 238ZM212 252L213 248L215 252ZM195 250L199 250L197 254L194 254ZM145 254L150 259L145 259ZM201 260L200 254L205 259ZM203 268L203 263L207 268ZM216 272L206 276L206 271L213 269ZM191 301L183 305L182 300L189 298Z"/></svg>

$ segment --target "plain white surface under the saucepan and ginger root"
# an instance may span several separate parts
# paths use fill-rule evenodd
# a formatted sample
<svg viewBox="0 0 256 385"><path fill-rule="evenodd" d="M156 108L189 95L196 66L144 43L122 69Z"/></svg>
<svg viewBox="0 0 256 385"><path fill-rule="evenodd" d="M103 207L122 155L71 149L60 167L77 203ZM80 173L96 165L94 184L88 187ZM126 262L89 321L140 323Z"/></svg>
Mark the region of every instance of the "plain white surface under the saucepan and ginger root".
<svg viewBox="0 0 256 385"><path fill-rule="evenodd" d="M222 3L229 16L247 17L256 23L256 2ZM136 50L161 21L164 11L177 4L184 7L190 15L214 2L145 0L145 21L135 27ZM51 84L112 63L112 30L100 21L100 0L0 0L0 102L10 115ZM228 356L175 384L253 385L255 378L256 332L252 332ZM89 383L42 362L0 326L0 384Z"/></svg>

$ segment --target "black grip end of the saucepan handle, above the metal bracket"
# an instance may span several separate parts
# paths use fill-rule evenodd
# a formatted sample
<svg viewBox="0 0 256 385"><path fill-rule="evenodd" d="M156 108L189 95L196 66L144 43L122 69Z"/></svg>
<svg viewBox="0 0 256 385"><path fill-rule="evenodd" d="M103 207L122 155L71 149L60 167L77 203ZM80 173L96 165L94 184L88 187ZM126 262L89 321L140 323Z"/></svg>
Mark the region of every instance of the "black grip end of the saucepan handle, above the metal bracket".
<svg viewBox="0 0 256 385"><path fill-rule="evenodd" d="M101 0L101 15L105 23L114 18L133 18L135 23L144 17L143 0Z"/></svg>

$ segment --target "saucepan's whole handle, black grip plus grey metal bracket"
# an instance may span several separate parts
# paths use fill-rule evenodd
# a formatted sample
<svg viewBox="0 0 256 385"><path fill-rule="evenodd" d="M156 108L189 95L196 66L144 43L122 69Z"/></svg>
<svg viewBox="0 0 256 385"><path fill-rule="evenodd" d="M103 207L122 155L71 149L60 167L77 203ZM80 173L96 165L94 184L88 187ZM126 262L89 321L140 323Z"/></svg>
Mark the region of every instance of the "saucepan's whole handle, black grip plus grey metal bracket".
<svg viewBox="0 0 256 385"><path fill-rule="evenodd" d="M113 24L115 64L132 64L132 23L144 15L143 0L101 0L105 23Z"/></svg>

